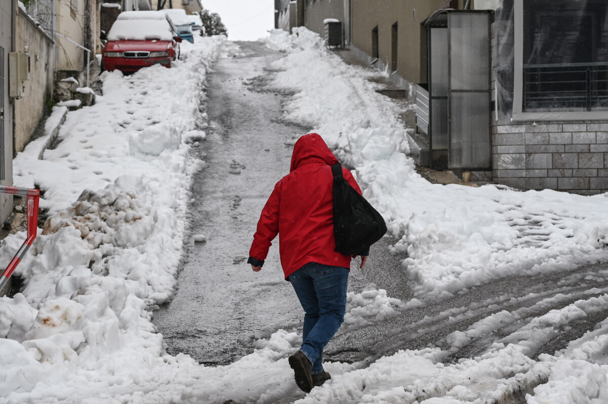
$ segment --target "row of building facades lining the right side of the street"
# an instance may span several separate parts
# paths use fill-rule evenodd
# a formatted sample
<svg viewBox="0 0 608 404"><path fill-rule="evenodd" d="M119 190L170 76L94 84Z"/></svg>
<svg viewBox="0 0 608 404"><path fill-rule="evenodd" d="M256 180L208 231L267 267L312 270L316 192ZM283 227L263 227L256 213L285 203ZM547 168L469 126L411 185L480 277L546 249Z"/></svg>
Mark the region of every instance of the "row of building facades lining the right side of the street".
<svg viewBox="0 0 608 404"><path fill-rule="evenodd" d="M523 190L608 191L605 0L302 1L302 25L323 35L325 19L344 21L350 50L416 101L423 165ZM291 29L297 2L275 4Z"/></svg>

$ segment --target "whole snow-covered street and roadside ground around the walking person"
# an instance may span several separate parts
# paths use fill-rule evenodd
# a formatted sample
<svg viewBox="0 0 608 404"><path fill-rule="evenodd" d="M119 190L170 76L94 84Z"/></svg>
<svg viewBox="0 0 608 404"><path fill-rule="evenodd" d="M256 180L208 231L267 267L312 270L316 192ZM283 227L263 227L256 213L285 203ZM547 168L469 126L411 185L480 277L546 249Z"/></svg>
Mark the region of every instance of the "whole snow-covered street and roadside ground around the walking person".
<svg viewBox="0 0 608 404"><path fill-rule="evenodd" d="M528 404L608 402L608 270L597 265L608 261L608 198L428 183L406 157L400 107L368 80L382 73L347 66L316 34L295 31L265 39L285 57L269 64L264 80L255 77L266 64L254 61L259 45L239 49L223 38L184 44L184 60L171 70L106 73L103 97L69 112L57 148L38 160L34 142L16 157L15 185L40 186L50 217L16 272L21 293L0 298L0 403L503 403L522 390L528 394L516 399ZM243 99L277 97L268 115L280 108L294 137L281 132L287 140L268 144L250 141L265 135L232 133L235 117L263 110L206 100L201 89L219 55L219 83L222 63L246 64L252 75L224 76L221 86ZM253 230L244 227L253 227L268 196L254 182L269 187L282 176L285 143L308 128L355 168L395 239L373 252L391 259L351 274L345 324L324 364L332 378L305 395L286 359L300 344L292 319L282 317L292 313L281 295L288 285L278 267L264 265L262 276L275 277L268 281L238 261ZM210 142L201 146L205 131ZM260 163L267 153L271 160ZM258 177L261 168L269 175ZM195 177L199 190L191 190ZM198 233L206 244L193 244ZM5 239L2 263L23 239ZM252 352L227 365L167 353L151 322L157 305L181 300L176 276L187 254L184 273L214 272L188 282L190 292L182 284L182 306L232 291L221 300L228 308L213 307L216 318L200 321L192 305L175 316L200 321L196 330L218 334L230 304L280 296L260 317L233 312L230 326L248 334L276 317L272 329L254 331ZM238 282L225 282L230 271L250 282L241 300Z"/></svg>

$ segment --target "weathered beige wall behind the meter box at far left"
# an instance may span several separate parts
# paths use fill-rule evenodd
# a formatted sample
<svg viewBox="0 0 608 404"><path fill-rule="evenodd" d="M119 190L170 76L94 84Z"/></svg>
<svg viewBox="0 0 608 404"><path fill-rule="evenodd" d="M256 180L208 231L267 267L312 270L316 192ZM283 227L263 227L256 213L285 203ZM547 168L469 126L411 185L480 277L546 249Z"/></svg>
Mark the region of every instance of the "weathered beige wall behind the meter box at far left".
<svg viewBox="0 0 608 404"><path fill-rule="evenodd" d="M22 10L16 27L16 47L30 55L30 80L25 95L15 100L15 153L23 151L45 117L53 91L54 43Z"/></svg>

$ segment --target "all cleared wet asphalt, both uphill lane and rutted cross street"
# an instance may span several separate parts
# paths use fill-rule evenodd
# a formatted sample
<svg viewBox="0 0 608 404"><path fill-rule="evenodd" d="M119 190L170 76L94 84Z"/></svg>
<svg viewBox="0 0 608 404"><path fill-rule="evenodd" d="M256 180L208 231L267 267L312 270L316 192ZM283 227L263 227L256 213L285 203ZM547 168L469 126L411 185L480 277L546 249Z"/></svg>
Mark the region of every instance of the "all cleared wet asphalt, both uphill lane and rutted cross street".
<svg viewBox="0 0 608 404"><path fill-rule="evenodd" d="M283 55L258 43L240 46L241 53L229 52L216 62L215 73L207 81L210 128L196 153L209 166L195 176L195 202L190 207L192 233L206 236L207 242L188 242L189 261L179 275L178 292L154 313L167 351L184 352L206 365L224 365L248 354L254 333L261 337L275 329L291 329L301 324L303 315L291 285L283 280L276 245L260 273L252 272L245 261L260 211L275 182L288 173L293 136L308 129L281 121L282 101L289 95L264 91L272 74L265 69ZM388 250L395 241L384 238L376 243L363 270L353 263L350 290L358 292L373 283L404 302L413 297L401 267L405 256L391 255ZM326 347L325 358L366 366L399 349L438 346L451 352L448 362L456 362L482 354L494 341L551 309L607 291L606 264L511 276L453 298L427 301L424 307L403 310L381 323L340 329ZM556 295L559 299L539 304ZM466 330L502 310L519 313L520 320L479 335L458 349L447 343L450 333ZM565 324L556 338L543 343L532 356L565 348L607 315L600 311ZM286 397L282 402L297 398ZM520 400L513 397L510 402Z"/></svg>

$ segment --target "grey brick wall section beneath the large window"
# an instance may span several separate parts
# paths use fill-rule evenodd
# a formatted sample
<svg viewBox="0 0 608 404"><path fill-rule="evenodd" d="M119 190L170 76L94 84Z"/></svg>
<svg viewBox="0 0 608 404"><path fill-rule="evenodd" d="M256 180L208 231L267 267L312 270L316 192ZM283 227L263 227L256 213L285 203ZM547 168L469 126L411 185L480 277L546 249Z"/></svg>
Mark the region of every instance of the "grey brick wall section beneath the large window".
<svg viewBox="0 0 608 404"><path fill-rule="evenodd" d="M492 127L492 177L524 190L608 191L608 123Z"/></svg>

